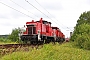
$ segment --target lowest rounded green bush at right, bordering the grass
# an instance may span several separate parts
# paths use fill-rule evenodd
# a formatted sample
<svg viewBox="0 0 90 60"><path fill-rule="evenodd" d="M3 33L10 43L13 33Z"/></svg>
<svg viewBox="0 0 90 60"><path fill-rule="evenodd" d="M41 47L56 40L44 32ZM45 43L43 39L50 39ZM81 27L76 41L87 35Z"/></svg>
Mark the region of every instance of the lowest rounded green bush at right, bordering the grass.
<svg viewBox="0 0 90 60"><path fill-rule="evenodd" d="M88 34L84 33L82 35L77 35L77 38L76 40L74 41L75 42L75 45L80 47L80 48L84 48L84 49L89 49L90 47L90 37L88 36Z"/></svg>

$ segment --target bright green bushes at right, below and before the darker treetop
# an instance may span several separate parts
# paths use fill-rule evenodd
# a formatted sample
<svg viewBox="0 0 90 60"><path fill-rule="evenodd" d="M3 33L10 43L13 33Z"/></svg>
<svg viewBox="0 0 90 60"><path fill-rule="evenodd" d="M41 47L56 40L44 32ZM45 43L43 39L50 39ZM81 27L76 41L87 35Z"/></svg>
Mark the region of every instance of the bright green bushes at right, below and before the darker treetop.
<svg viewBox="0 0 90 60"><path fill-rule="evenodd" d="M90 50L90 25L81 24L74 30L74 34L71 37L71 41L75 42L75 45Z"/></svg>

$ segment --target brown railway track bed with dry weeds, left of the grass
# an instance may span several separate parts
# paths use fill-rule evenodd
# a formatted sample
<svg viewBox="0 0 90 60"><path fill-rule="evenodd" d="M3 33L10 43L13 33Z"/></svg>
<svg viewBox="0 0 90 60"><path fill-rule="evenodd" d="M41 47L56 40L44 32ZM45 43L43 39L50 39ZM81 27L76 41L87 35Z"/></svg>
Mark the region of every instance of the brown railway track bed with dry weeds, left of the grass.
<svg viewBox="0 0 90 60"><path fill-rule="evenodd" d="M16 51L31 51L32 49L40 49L42 47L43 45L40 44L1 44L0 55L3 56L5 54L13 53Z"/></svg>

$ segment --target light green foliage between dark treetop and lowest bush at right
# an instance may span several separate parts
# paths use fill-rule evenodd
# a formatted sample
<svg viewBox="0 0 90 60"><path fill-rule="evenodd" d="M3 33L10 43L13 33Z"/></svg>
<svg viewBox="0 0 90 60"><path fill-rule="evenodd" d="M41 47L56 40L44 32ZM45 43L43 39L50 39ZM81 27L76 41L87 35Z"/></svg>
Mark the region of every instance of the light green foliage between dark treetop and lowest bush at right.
<svg viewBox="0 0 90 60"><path fill-rule="evenodd" d="M80 35L84 35L84 34L90 35L90 25L89 24L84 23L84 24L81 24L75 27L71 40L75 41L77 37L79 37Z"/></svg>

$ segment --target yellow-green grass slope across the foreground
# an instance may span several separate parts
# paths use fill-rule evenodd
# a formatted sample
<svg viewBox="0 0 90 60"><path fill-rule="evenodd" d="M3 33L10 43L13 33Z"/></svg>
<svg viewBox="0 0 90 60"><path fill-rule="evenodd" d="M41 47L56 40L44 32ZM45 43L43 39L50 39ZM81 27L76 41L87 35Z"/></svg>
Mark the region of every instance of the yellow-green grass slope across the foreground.
<svg viewBox="0 0 90 60"><path fill-rule="evenodd" d="M90 60L90 51L76 48L71 42L45 44L41 49L7 54L1 60Z"/></svg>

